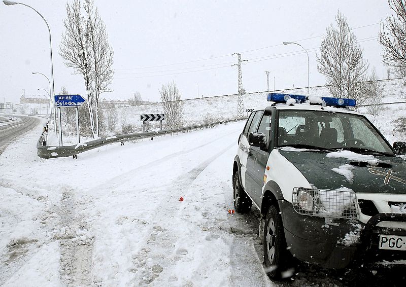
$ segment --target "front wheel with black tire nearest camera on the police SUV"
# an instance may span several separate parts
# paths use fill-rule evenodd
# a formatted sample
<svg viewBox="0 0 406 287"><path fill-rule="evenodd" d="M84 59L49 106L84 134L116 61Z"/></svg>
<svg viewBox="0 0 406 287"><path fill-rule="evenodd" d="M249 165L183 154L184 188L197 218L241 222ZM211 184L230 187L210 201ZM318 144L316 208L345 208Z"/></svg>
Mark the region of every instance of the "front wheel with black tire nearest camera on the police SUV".
<svg viewBox="0 0 406 287"><path fill-rule="evenodd" d="M292 264L292 255L286 249L282 217L278 207L271 205L266 213L263 234L265 270L269 278L280 280L293 275L287 271Z"/></svg>

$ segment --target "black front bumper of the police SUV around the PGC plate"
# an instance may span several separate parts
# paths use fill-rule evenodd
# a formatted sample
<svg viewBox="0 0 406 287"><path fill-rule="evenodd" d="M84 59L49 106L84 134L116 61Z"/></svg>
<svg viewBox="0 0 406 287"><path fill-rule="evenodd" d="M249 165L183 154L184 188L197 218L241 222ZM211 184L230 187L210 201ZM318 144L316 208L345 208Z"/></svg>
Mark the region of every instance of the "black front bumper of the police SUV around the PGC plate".
<svg viewBox="0 0 406 287"><path fill-rule="evenodd" d="M292 204L284 200L279 201L279 206L287 246L301 261L341 269L351 263L366 265L406 260L405 251L378 248L379 234L406 235L406 230L376 226L381 221L406 222L406 214L380 213L365 225L357 220L298 214Z"/></svg>

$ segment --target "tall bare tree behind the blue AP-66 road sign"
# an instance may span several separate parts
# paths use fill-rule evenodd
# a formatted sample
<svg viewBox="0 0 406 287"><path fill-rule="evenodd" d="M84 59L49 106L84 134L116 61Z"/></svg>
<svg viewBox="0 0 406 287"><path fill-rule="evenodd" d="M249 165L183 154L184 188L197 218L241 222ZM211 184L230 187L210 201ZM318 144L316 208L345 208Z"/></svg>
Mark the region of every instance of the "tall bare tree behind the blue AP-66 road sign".
<svg viewBox="0 0 406 287"><path fill-rule="evenodd" d="M108 43L106 25L101 20L94 0L80 0L66 4L65 32L59 45L59 54L65 65L82 74L88 98L90 128L93 137L99 135L98 100L108 88L114 75L113 49Z"/></svg>

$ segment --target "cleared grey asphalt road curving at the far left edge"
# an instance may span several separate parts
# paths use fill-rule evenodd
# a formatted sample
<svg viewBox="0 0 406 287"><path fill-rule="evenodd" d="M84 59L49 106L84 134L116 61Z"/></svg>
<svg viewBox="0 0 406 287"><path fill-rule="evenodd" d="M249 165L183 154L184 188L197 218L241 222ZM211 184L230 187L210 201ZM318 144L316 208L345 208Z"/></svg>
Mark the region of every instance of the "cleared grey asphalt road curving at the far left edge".
<svg viewBox="0 0 406 287"><path fill-rule="evenodd" d="M0 154L5 150L8 143L12 139L22 135L23 133L33 129L40 123L40 120L35 117L14 116L20 120L11 121L8 124L0 125Z"/></svg>

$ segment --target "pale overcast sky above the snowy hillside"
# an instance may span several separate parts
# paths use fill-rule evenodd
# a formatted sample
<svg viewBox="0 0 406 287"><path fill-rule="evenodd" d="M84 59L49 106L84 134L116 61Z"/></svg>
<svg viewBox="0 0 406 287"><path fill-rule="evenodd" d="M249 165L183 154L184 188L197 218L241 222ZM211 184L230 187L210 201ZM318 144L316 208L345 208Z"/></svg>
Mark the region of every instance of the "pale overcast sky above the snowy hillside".
<svg viewBox="0 0 406 287"><path fill-rule="evenodd" d="M83 79L73 75L58 53L66 16L65 1L22 0L47 20L52 34L56 94L65 86L85 95ZM139 91L144 100L158 101L162 84L175 81L183 98L233 94L238 87L237 63L232 53L247 59L242 66L248 92L323 85L316 51L321 36L340 10L354 29L364 58L382 77L379 23L392 14L385 0L273 0L273 1L95 1L114 49L113 92L106 98L127 99ZM0 3L0 101L18 102L26 95L45 94L50 78L48 30L31 9ZM311 38L311 39L309 39ZM304 40L307 39L307 40ZM297 52L297 53L295 53ZM386 70L386 68L385 68ZM385 71L386 74L386 71ZM386 77L386 75L385 75ZM197 86L198 85L198 86Z"/></svg>

